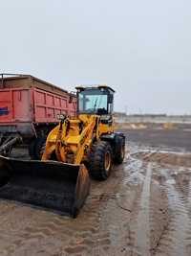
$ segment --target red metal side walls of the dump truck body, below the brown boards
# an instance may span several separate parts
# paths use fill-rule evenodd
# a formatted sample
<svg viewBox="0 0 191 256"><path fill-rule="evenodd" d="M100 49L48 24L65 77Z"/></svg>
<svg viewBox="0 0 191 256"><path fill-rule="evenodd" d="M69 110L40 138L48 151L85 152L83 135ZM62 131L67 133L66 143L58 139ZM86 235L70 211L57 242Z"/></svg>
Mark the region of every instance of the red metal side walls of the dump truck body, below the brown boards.
<svg viewBox="0 0 191 256"><path fill-rule="evenodd" d="M74 99L75 100L75 99ZM40 89L0 90L0 124L10 122L55 123L57 114L74 115L75 101Z"/></svg>

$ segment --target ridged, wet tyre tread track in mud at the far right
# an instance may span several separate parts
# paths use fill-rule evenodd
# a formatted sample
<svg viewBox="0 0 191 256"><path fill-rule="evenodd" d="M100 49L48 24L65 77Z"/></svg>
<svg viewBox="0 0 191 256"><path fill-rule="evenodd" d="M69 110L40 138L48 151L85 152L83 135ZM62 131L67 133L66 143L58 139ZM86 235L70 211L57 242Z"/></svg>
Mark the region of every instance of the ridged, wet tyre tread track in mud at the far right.
<svg viewBox="0 0 191 256"><path fill-rule="evenodd" d="M173 170L159 168L164 177L162 182L168 197L170 220L168 228L159 241L155 251L156 256L189 256L191 239L191 220L189 216L187 198L178 191L176 179L172 177Z"/></svg>

